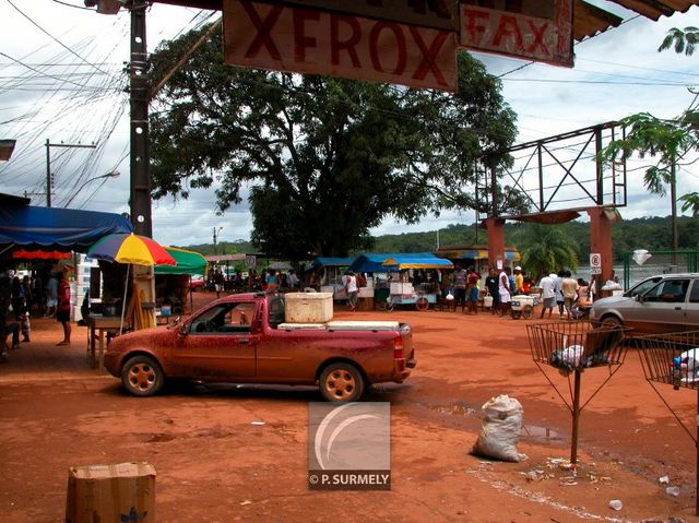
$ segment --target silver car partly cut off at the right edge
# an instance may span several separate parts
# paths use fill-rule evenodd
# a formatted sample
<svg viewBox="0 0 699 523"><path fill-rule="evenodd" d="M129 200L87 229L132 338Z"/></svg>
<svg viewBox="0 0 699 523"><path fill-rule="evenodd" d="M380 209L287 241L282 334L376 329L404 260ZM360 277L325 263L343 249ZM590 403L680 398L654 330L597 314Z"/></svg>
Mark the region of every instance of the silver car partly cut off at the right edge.
<svg viewBox="0 0 699 523"><path fill-rule="evenodd" d="M699 273L661 274L596 300L590 319L633 328L630 335L699 330Z"/></svg>

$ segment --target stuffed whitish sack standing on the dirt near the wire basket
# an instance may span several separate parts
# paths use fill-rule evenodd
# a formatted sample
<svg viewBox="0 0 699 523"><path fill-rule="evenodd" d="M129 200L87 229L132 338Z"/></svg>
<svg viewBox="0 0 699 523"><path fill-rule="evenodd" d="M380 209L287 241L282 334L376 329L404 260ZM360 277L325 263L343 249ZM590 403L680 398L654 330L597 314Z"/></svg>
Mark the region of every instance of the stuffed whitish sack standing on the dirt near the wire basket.
<svg viewBox="0 0 699 523"><path fill-rule="evenodd" d="M511 462L526 460L526 454L517 451L524 413L520 402L501 394L488 400L482 409L483 426L473 453Z"/></svg>

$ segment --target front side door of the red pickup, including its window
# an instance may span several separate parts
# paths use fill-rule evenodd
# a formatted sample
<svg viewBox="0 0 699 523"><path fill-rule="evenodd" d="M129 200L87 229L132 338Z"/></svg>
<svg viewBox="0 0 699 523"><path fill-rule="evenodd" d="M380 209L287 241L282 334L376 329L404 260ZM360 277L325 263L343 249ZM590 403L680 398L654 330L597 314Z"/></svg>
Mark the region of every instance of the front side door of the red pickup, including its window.
<svg viewBox="0 0 699 523"><path fill-rule="evenodd" d="M235 381L254 376L259 334L252 334L254 301L220 304L192 319L173 352L183 377Z"/></svg>

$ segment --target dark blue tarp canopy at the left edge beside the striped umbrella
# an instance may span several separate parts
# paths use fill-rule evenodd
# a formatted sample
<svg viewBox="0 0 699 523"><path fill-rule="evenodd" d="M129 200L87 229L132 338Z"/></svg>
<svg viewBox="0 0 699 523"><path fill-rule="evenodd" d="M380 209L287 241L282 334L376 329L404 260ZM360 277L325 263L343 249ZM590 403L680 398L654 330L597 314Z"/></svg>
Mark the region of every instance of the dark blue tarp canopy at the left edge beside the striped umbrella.
<svg viewBox="0 0 699 523"><path fill-rule="evenodd" d="M103 236L132 231L131 223L120 214L31 205L0 207L0 245L84 252Z"/></svg>

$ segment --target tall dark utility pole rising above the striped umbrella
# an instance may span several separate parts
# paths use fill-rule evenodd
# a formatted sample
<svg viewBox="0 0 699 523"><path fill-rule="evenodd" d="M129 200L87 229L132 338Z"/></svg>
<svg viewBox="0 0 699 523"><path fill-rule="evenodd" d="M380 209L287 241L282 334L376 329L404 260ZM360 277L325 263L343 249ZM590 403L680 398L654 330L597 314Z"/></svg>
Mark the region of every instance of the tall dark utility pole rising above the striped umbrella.
<svg viewBox="0 0 699 523"><path fill-rule="evenodd" d="M149 102L150 81L145 43L145 10L149 2L131 0L131 223L135 234L153 237L151 218L151 176L149 173Z"/></svg>

